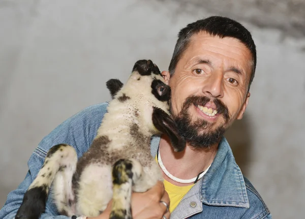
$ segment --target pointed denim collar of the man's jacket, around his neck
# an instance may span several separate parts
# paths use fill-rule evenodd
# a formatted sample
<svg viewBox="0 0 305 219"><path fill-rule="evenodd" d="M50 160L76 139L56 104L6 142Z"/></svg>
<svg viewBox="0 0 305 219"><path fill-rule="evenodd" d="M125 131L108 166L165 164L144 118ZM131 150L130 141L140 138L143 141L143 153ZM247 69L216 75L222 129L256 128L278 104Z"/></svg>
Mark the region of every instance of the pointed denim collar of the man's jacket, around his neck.
<svg viewBox="0 0 305 219"><path fill-rule="evenodd" d="M160 136L151 139L150 152L153 157L157 154L159 143ZM219 143L211 167L197 183L200 183L200 200L204 204L244 208L250 206L245 181L225 137Z"/></svg>

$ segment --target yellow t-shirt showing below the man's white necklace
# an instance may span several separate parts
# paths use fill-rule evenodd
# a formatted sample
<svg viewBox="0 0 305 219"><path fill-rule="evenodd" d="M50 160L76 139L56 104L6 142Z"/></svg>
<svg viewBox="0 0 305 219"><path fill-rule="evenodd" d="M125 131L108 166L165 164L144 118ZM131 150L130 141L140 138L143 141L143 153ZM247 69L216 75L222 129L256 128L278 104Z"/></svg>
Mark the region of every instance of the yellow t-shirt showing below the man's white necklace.
<svg viewBox="0 0 305 219"><path fill-rule="evenodd" d="M158 163L157 160L157 155L155 158L156 162ZM179 202L182 200L182 198L189 192L189 190L195 185L187 185L187 186L177 186L173 185L172 183L166 181L164 179L164 187L165 191L168 193L169 200L170 200L170 205L169 205L169 211L172 212Z"/></svg>

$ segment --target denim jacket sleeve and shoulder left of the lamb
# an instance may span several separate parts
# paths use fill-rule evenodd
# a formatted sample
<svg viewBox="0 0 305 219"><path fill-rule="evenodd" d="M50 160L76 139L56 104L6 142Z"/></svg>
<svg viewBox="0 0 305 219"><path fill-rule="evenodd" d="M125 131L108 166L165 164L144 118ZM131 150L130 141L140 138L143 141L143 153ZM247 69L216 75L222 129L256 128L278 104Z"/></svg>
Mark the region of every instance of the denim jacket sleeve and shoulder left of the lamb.
<svg viewBox="0 0 305 219"><path fill-rule="evenodd" d="M24 180L19 184L16 190L9 193L5 205L0 210L0 219L12 219L15 217L25 192L36 178L43 165L47 151L53 145L59 143L70 144L75 148L78 158L81 157L96 136L97 130L106 112L106 107L107 102L87 107L68 118L42 139L27 162L28 171ZM56 207L49 197L46 204L46 211L41 215L41 219L51 218L67 219L69 217L58 215Z"/></svg>

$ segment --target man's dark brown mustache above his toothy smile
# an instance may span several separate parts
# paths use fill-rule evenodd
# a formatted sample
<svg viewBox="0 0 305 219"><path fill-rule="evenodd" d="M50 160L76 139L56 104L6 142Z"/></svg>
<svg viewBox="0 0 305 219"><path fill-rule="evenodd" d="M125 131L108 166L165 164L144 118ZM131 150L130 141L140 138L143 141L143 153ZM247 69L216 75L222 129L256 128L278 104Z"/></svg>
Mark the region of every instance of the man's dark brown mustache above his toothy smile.
<svg viewBox="0 0 305 219"><path fill-rule="evenodd" d="M191 96L186 99L183 108L187 109L191 106L191 104L194 104L195 106L204 106L210 101L211 99L206 96ZM212 102L216 106L217 114L223 115L225 121L228 122L230 120L230 113L228 107L219 99L213 99Z"/></svg>

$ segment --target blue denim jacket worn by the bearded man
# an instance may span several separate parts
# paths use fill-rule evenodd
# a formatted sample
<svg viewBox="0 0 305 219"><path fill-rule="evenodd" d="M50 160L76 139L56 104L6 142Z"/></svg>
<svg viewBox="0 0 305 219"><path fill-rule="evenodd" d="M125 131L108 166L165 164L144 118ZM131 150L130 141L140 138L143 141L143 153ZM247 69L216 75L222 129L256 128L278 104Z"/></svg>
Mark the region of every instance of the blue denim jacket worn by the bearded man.
<svg viewBox="0 0 305 219"><path fill-rule="evenodd" d="M37 176L47 151L59 143L75 147L80 157L92 143L107 111L107 102L87 107L68 118L49 135L43 138L28 160L28 172L18 188L9 193L0 210L0 219L14 218L22 203L28 186ZM151 155L155 157L160 137L151 140ZM42 219L68 219L58 215L49 198ZM171 213L171 219L178 218L271 218L271 214L258 192L248 179L242 176L235 163L233 153L225 138L219 145L214 162L205 176L200 179Z"/></svg>

